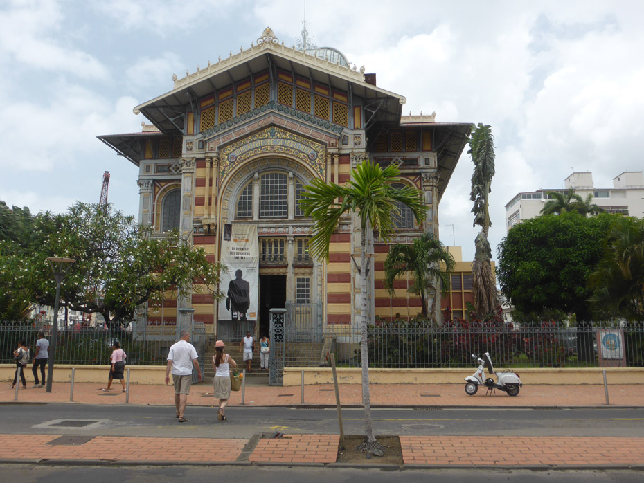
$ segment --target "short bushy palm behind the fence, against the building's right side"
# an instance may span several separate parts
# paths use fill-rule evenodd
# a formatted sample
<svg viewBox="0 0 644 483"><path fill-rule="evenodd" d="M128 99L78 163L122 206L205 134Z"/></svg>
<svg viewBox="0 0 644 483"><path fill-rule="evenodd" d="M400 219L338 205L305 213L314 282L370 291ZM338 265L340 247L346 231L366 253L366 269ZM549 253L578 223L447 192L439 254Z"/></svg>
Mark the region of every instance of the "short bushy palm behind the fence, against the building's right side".
<svg viewBox="0 0 644 483"><path fill-rule="evenodd" d="M440 264L445 266L444 271L440 269ZM438 291L436 280L439 281L442 291L447 290L449 273L453 270L454 257L440 243L436 235L425 232L414 239L411 245L395 244L389 248L384 261L384 288L393 294L395 278L411 273L413 284L407 291L420 297L422 316L427 317L427 294ZM436 297L431 304L431 314L434 313L435 306Z"/></svg>

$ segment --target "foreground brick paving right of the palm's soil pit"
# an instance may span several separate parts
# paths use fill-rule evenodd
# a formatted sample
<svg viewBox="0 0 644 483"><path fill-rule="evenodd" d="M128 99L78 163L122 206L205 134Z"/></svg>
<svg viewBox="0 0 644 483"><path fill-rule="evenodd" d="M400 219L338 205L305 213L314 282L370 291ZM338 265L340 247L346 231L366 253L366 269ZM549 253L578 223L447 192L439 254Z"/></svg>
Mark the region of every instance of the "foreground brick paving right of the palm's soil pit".
<svg viewBox="0 0 644 483"><path fill-rule="evenodd" d="M644 438L401 436L405 464L605 466L644 464Z"/></svg>

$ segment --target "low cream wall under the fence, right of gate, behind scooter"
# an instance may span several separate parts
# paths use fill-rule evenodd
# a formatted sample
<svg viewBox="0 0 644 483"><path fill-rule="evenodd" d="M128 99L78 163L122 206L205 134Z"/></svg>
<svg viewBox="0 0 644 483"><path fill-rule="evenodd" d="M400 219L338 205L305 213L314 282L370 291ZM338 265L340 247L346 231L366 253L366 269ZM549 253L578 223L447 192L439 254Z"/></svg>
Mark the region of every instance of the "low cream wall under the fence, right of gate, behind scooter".
<svg viewBox="0 0 644 483"><path fill-rule="evenodd" d="M573 384L603 384L602 370L589 369L519 369L517 370L521 383L525 385L573 385ZM338 383L361 383L361 370L338 369ZM465 384L465 377L472 376L474 369L370 369L369 381L373 384ZM609 367L606 369L609 384L640 384L644 376L644 368ZM287 368L284 370L284 385L300 385L302 368ZM332 384L333 376L330 368L316 367L304 369L304 383Z"/></svg>

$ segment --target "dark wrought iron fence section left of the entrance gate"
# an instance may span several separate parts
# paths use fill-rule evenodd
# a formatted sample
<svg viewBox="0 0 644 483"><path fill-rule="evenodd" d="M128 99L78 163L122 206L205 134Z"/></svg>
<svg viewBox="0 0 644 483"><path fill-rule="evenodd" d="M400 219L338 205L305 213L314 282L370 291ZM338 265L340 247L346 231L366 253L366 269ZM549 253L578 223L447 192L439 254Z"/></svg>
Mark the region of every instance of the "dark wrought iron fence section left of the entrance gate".
<svg viewBox="0 0 644 483"><path fill-rule="evenodd" d="M37 334L51 337L51 325L42 322L0 322L0 363L13 363L12 352L20 340L32 349ZM205 328L195 322L191 342L202 363L205 351ZM71 325L61 327L57 334L56 363L101 365L109 363L112 346L118 340L127 354L128 365L166 365L170 345L178 340L176 325L132 324L103 329ZM203 364L202 364L203 367Z"/></svg>

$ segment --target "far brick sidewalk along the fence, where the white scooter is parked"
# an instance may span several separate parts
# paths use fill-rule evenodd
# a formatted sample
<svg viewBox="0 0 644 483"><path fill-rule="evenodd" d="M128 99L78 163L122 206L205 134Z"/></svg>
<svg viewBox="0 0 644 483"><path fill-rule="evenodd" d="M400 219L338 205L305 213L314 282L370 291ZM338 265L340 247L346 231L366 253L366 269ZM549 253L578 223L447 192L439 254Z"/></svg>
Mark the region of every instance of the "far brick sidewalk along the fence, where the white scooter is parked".
<svg viewBox="0 0 644 483"><path fill-rule="evenodd" d="M116 386L116 387L115 387ZM86 404L124 404L125 394L120 385L113 385L111 392L102 392L100 384L75 383L73 402ZM53 384L51 393L42 388L18 391L19 402L61 403L69 402L71 385ZM497 391L491 396L479 390L467 396L460 384L373 384L371 404L378 406L485 406L485 407L607 407L602 385L532 385L524 386L517 397ZM340 401L343 406L359 406L362 401L361 386L341 384ZM172 405L172 385L131 385L129 403L136 405ZM213 386L209 383L193 385L188 405L213 405ZM8 383L0 384L0 403L13 402L15 390ZM292 406L302 402L301 387L249 385L245 388L244 404L253 406ZM644 385L609 385L611 406L644 407ZM231 393L231 405L242 403L242 392ZM308 405L335 405L332 385L305 385L304 403Z"/></svg>

